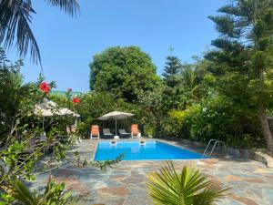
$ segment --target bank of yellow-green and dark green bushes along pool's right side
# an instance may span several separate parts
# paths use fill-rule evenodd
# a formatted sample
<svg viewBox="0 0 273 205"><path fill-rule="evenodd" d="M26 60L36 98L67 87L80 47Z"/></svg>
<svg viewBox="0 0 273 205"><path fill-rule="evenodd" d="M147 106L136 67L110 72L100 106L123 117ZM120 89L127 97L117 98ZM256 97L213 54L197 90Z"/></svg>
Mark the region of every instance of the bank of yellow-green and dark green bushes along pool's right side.
<svg viewBox="0 0 273 205"><path fill-rule="evenodd" d="M216 138L237 148L248 149L263 144L257 114L219 96L185 110L169 111L163 129L169 137L202 142Z"/></svg>

